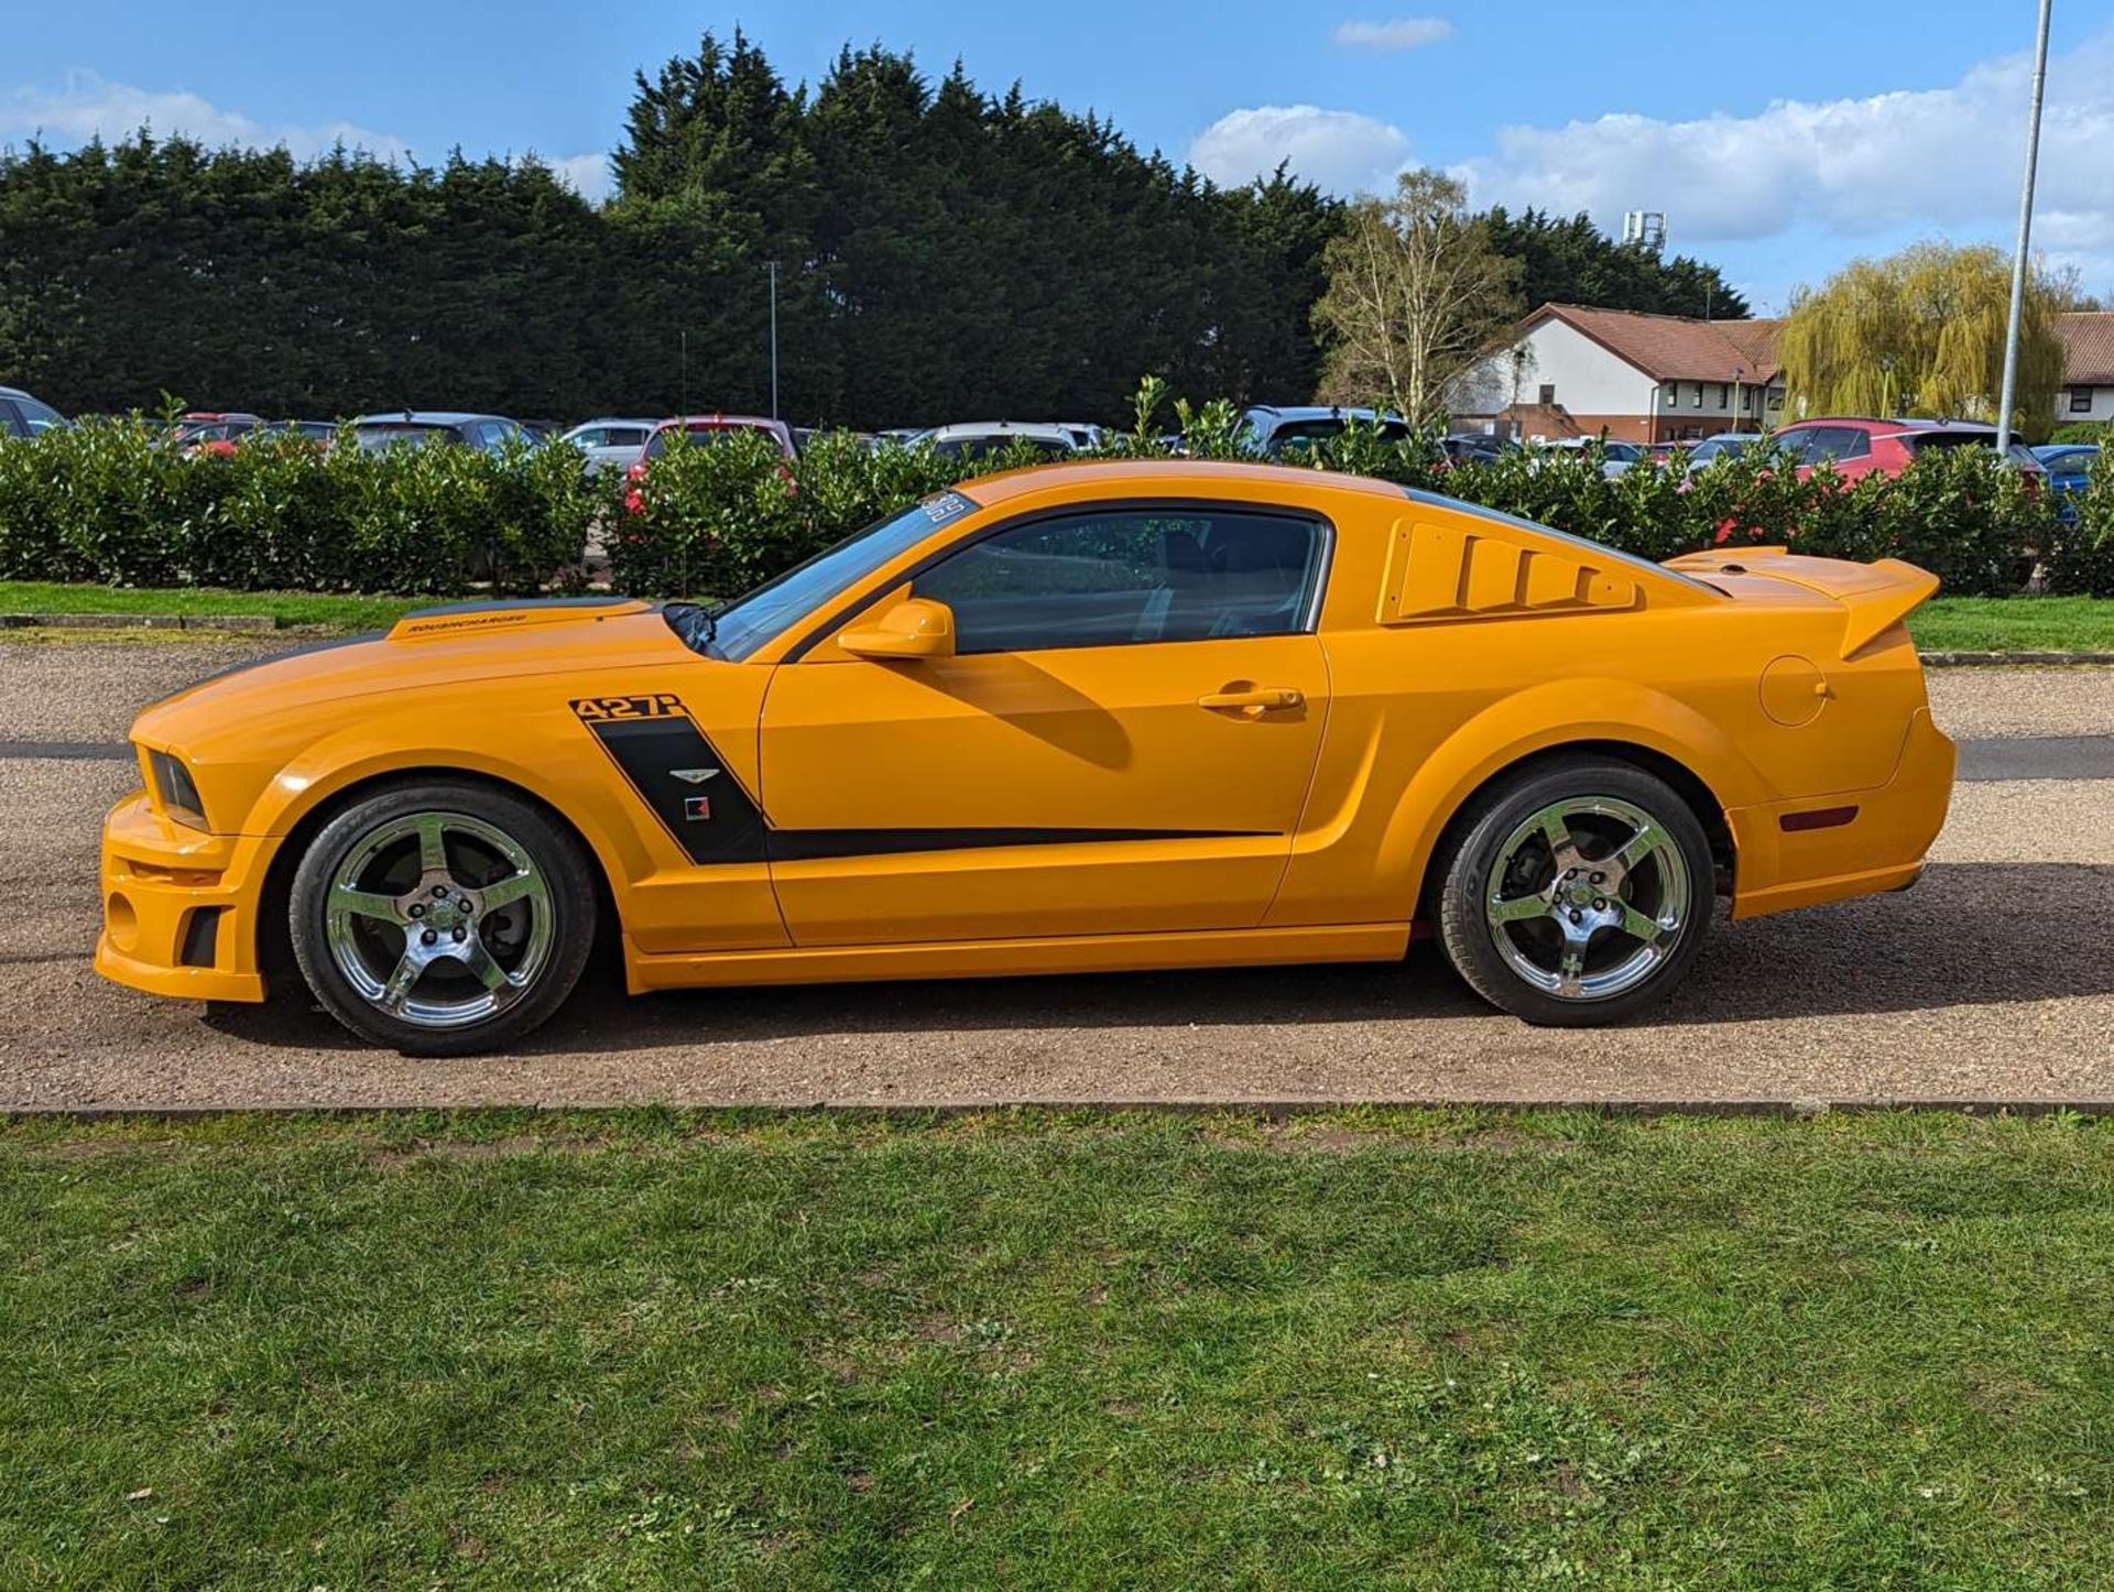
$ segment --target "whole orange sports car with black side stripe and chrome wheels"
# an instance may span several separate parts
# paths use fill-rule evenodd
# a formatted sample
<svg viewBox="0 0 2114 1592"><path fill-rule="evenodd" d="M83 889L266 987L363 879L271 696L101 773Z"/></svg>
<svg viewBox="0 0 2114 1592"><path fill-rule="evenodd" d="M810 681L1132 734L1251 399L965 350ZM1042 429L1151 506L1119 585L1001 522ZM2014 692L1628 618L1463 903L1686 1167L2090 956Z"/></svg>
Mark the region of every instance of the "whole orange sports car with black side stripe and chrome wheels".
<svg viewBox="0 0 2114 1592"><path fill-rule="evenodd" d="M95 966L298 977L505 1044L598 934L632 992L1393 962L1602 1023L1731 918L1900 890L1953 746L1936 588L1782 548L1651 564L1311 469L964 482L717 609L431 609L133 727Z"/></svg>

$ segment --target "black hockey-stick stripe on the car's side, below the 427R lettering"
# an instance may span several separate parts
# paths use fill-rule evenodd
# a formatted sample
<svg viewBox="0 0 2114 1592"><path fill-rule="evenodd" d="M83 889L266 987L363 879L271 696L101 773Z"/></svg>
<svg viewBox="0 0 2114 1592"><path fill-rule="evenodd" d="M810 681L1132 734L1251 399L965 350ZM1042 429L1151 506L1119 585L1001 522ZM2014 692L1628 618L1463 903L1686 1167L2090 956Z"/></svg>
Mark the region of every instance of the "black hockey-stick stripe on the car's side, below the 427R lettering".
<svg viewBox="0 0 2114 1592"><path fill-rule="evenodd" d="M1135 839L1239 839L1249 829L774 829L687 712L583 719L638 799L691 863L812 863L835 856L964 852L989 846L1087 846ZM683 770L683 778L676 774ZM702 776L702 778L696 778Z"/></svg>

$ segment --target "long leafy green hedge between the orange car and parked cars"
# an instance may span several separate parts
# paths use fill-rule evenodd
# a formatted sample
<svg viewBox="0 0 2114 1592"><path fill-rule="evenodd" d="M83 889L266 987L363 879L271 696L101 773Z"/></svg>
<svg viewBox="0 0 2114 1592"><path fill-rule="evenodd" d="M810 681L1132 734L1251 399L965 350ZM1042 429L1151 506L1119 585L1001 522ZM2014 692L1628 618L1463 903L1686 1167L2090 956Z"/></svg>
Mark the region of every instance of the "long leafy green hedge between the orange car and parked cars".
<svg viewBox="0 0 2114 1592"><path fill-rule="evenodd" d="M1156 393L1118 457L1161 457ZM1175 414L1190 452L1237 457L1230 404ZM137 421L0 442L0 579L249 590L452 594L564 588L581 579L590 531L617 590L725 596L799 562L966 469L1036 463L1027 452L966 467L928 448L816 438L786 465L767 442L734 436L676 446L636 501L619 474L590 478L571 448L480 455L419 448L328 452L252 440L233 455L180 455ZM1763 455L1687 476L1638 465L1602 476L1588 455L1507 452L1448 469L1433 438L1385 442L1351 431L1309 455L1319 469L1378 476L1592 537L1645 558L1731 543L1793 543L1839 558L1898 556L1955 596L2048 590L2114 596L2114 469L2101 463L2059 522L2048 497L1958 448L1888 480L1807 478Z"/></svg>

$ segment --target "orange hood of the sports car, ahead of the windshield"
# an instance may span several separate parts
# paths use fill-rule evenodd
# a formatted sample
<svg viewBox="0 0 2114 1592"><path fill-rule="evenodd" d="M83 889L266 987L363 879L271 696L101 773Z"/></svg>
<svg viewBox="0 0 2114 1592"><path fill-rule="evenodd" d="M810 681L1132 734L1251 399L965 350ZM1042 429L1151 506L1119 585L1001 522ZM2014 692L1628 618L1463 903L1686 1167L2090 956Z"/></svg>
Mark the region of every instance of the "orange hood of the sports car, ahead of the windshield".
<svg viewBox="0 0 2114 1592"><path fill-rule="evenodd" d="M696 658L660 609L634 598L461 603L406 613L389 630L326 641L209 674L140 715L133 740L178 748L285 715L391 691Z"/></svg>

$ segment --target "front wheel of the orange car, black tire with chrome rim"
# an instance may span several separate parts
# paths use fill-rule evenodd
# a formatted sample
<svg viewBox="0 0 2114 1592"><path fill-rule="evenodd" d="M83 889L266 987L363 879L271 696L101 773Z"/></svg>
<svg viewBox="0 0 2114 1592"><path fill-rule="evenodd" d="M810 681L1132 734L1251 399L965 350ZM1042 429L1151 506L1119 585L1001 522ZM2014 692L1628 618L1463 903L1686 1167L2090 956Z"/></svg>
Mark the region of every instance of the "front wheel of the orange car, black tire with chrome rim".
<svg viewBox="0 0 2114 1592"><path fill-rule="evenodd" d="M495 786L389 786L336 814L302 852L288 899L294 960L323 1011L364 1040L404 1055L495 1051L539 1028L579 983L594 945L592 867L562 825ZM357 896L334 892L349 869ZM509 890L512 901L484 909L486 892L497 901ZM332 907L351 899L397 915ZM412 964L391 1008L393 975Z"/></svg>

